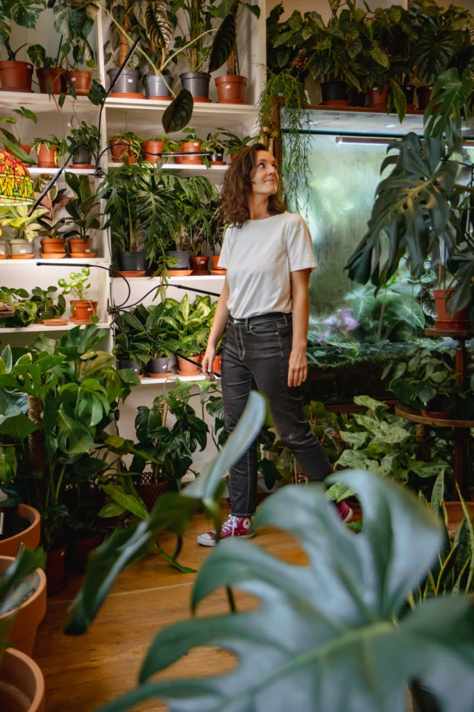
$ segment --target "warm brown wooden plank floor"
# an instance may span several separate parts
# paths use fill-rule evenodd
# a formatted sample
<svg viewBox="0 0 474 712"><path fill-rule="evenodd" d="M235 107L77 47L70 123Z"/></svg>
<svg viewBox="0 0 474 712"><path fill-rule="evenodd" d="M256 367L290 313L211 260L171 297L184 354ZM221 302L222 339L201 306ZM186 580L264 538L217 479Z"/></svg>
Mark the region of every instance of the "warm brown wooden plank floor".
<svg viewBox="0 0 474 712"><path fill-rule="evenodd" d="M196 536L209 527L197 515L185 537L180 555L183 565L198 569L210 553L200 547ZM290 535L264 528L255 540L281 559L306 563L306 555ZM170 553L171 538L163 539ZM189 617L189 600L195 574L182 574L161 557L150 555L129 567L82 637L62 632L66 612L80 585L80 576L70 575L63 592L50 597L33 657L43 670L46 682L46 712L92 712L102 703L132 689L144 654L158 629ZM237 607L256 602L237 594ZM201 604L201 616L227 612L224 592L217 592ZM217 649L199 648L173 665L162 677L205 676L224 673L233 666L233 657ZM149 700L134 712L164 712L163 701Z"/></svg>

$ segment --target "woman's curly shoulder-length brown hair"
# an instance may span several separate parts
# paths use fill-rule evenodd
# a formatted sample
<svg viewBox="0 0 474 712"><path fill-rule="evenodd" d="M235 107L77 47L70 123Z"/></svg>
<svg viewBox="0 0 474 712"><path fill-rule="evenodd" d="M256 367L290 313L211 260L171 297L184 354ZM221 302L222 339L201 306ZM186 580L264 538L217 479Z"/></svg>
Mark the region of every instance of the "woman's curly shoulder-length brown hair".
<svg viewBox="0 0 474 712"><path fill-rule="evenodd" d="M242 227L249 219L249 193L252 192L252 175L257 165L257 152L268 151L263 143L246 146L237 153L224 178L220 194L220 216L232 227ZM269 214L278 215L285 206L276 195L269 197Z"/></svg>

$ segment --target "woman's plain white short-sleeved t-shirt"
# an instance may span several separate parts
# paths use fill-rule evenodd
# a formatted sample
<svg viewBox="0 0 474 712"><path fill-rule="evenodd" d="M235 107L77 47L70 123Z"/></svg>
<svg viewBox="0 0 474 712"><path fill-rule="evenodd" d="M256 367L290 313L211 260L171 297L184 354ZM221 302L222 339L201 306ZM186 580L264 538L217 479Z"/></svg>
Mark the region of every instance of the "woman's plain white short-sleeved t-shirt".
<svg viewBox="0 0 474 712"><path fill-rule="evenodd" d="M227 307L236 319L291 312L291 272L314 269L308 226L284 212L225 231L219 266L227 269Z"/></svg>

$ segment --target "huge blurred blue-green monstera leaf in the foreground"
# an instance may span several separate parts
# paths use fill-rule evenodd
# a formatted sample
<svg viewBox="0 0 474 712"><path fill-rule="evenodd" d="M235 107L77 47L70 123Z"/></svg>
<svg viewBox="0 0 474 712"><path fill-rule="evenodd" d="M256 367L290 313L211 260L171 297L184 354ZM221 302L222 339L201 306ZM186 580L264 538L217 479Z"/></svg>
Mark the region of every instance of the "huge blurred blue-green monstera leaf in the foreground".
<svg viewBox="0 0 474 712"><path fill-rule="evenodd" d="M406 712L417 681L441 711L470 712L474 613L467 597L442 597L403 614L406 597L436 559L442 535L412 493L367 473L329 478L352 487L362 533L341 523L321 485L286 487L267 499L257 525L300 543L306 566L290 565L235 538L212 551L195 582L192 608L222 586L259 599L249 612L200 617L158 633L139 687L101 712L164 698L170 712ZM151 681L195 646L239 656L227 675Z"/></svg>

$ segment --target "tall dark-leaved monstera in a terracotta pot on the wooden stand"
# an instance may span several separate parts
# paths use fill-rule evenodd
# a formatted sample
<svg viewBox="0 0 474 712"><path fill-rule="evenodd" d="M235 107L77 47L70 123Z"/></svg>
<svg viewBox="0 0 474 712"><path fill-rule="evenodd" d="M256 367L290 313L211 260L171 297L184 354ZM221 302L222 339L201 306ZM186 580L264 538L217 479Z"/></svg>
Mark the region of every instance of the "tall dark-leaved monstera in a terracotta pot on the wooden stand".
<svg viewBox="0 0 474 712"><path fill-rule="evenodd" d="M470 235L470 169L463 176L461 112L470 100L474 73L447 70L433 85L424 114L424 137L410 132L394 140L380 172L391 167L377 187L367 232L345 269L350 279L371 280L380 288L406 256L411 276L419 278L426 260L439 268L440 287L456 288L448 309L471 303L474 244ZM448 284L446 284L448 283Z"/></svg>

